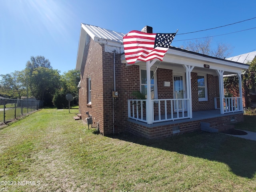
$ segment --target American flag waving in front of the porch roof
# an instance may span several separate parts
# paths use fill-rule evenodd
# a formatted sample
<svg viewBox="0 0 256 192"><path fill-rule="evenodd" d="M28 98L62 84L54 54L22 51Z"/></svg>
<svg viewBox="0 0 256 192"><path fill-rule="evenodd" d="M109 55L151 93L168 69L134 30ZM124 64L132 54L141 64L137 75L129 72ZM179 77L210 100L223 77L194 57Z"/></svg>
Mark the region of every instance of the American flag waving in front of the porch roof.
<svg viewBox="0 0 256 192"><path fill-rule="evenodd" d="M131 31L123 37L124 56L128 64L137 60L163 60L176 33L144 33Z"/></svg>

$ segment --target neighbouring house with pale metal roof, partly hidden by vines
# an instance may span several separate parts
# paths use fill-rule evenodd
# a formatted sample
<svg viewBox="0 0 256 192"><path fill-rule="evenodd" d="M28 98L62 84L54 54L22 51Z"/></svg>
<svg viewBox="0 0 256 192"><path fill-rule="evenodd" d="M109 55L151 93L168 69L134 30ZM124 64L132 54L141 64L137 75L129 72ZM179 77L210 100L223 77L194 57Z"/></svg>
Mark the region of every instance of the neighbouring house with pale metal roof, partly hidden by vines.
<svg viewBox="0 0 256 192"><path fill-rule="evenodd" d="M226 60L248 64L249 62L252 62L252 60L255 57L256 57L256 51L245 53L245 54L234 56L234 57L230 57L230 58L226 58ZM233 90L232 94L233 94L233 96L237 96L237 91ZM255 86L249 90L249 94L250 94L250 103L252 104L253 107L256 107L256 88L255 88ZM243 96L243 106L245 106L244 96Z"/></svg>

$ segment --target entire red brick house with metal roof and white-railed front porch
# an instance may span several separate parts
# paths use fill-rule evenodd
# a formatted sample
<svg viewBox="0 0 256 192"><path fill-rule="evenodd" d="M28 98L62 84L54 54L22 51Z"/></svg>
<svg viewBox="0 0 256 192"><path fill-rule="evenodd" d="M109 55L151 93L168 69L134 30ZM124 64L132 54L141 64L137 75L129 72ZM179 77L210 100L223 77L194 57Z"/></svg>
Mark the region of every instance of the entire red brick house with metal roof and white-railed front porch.
<svg viewBox="0 0 256 192"><path fill-rule="evenodd" d="M241 71L248 65L176 47L169 48L162 62L127 65L124 35L81 24L76 70L81 72L84 122L90 114L92 126L103 135L129 131L162 138L243 121ZM226 74L237 74L239 97L224 98ZM146 100L136 98L134 91Z"/></svg>

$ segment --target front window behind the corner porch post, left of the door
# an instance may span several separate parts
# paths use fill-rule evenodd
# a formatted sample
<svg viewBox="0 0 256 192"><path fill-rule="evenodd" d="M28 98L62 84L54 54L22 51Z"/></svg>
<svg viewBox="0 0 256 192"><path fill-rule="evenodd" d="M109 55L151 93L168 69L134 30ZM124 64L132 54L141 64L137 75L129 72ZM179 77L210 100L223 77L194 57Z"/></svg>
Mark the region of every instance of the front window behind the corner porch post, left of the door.
<svg viewBox="0 0 256 192"><path fill-rule="evenodd" d="M150 90L151 99L157 98L157 88L156 88L156 73L150 70ZM140 92L147 98L147 71L146 69L140 69Z"/></svg>

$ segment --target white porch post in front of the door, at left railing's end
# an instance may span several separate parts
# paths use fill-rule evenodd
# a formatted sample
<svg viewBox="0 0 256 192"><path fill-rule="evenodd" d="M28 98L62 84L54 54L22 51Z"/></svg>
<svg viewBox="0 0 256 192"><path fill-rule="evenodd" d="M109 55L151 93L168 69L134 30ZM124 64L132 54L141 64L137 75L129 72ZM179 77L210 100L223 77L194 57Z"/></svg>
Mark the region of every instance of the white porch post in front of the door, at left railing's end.
<svg viewBox="0 0 256 192"><path fill-rule="evenodd" d="M192 118L191 72L194 69L194 66L191 66L191 65L183 65L183 66L186 69L186 90L187 90L187 98L189 99L188 116L191 119Z"/></svg>

